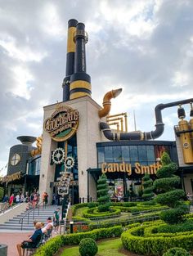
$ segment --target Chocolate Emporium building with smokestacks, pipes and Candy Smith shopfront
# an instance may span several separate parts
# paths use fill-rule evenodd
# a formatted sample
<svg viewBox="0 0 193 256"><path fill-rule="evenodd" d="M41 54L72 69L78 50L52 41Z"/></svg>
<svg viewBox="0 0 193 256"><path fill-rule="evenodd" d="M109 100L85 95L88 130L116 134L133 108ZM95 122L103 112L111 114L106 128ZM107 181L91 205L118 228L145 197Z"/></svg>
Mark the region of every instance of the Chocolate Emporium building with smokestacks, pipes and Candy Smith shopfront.
<svg viewBox="0 0 193 256"><path fill-rule="evenodd" d="M145 173L156 178L161 155L167 151L179 165L183 188L192 194L193 99L155 106L153 131L128 132L127 113L110 115L111 99L118 97L122 89L107 92L102 107L92 99L86 43L88 34L83 23L69 20L63 101L44 106L41 146L26 147L24 173L38 177L39 192L42 195L46 191L50 202L53 193L69 197L72 204L96 200L96 182L101 173L108 178L112 200L114 196L128 199L130 186L139 195ZM185 120L182 108L185 104L191 104L190 122ZM162 110L169 107L178 107L177 140L157 141L164 132ZM9 161L15 153L17 150L11 151ZM40 171L36 171L39 166ZM16 171L20 171L19 165Z"/></svg>

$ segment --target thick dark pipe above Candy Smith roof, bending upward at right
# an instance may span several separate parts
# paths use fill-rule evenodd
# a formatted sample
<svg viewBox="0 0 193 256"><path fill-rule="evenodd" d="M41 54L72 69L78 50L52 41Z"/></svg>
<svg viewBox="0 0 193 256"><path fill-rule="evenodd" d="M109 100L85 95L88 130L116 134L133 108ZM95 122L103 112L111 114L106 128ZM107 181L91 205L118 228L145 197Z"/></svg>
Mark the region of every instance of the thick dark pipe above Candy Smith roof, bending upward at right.
<svg viewBox="0 0 193 256"><path fill-rule="evenodd" d="M193 102L193 99L187 99L182 101L170 102L168 104L159 104L155 106L155 131L151 132L112 132L109 125L105 122L100 123L100 129L104 133L105 137L110 141L134 141L134 140L151 140L160 137L164 132L164 123L162 120L161 110L168 107L178 106L180 104L187 104Z"/></svg>

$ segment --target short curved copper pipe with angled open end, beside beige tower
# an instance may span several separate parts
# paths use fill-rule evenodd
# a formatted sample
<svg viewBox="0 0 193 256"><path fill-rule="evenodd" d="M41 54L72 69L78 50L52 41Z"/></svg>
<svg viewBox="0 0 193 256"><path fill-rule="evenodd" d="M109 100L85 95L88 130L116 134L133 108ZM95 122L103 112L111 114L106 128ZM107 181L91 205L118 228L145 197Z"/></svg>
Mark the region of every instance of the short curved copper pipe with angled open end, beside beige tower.
<svg viewBox="0 0 193 256"><path fill-rule="evenodd" d="M103 109L98 111L98 115L100 117L100 119L102 117L105 117L106 115L108 115L110 113L110 106L111 106L111 102L110 100L112 98L118 97L118 95L122 92L122 88L116 89L116 90L112 90L110 92L107 92L103 98Z"/></svg>

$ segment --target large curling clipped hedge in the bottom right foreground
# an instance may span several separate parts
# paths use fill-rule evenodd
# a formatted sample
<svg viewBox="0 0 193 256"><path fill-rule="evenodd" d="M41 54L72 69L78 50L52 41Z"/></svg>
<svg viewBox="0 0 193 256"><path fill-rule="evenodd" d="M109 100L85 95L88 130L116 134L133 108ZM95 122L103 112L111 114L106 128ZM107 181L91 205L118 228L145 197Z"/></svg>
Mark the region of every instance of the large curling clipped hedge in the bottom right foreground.
<svg viewBox="0 0 193 256"><path fill-rule="evenodd" d="M182 247L188 251L193 249L192 231L153 234L154 227L158 227L161 223L164 222L153 222L153 225L152 222L146 222L141 226L124 231L121 236L124 248L133 253L155 256L164 254L167 249L172 247Z"/></svg>

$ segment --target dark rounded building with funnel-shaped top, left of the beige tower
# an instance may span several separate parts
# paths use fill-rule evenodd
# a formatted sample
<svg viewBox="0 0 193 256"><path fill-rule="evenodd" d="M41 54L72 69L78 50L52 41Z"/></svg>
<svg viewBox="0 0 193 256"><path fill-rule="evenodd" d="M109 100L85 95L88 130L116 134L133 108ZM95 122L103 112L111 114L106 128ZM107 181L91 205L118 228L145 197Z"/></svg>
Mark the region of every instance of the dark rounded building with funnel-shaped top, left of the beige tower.
<svg viewBox="0 0 193 256"><path fill-rule="evenodd" d="M14 193L29 193L38 190L41 151L33 146L36 137L20 136L17 139L21 142L11 146L7 176L2 178L2 183L8 195ZM39 138L38 138L39 141ZM34 154L35 153L35 154Z"/></svg>

